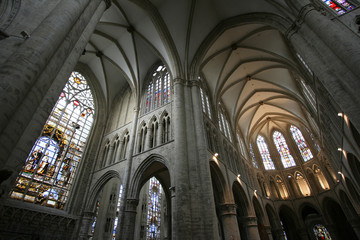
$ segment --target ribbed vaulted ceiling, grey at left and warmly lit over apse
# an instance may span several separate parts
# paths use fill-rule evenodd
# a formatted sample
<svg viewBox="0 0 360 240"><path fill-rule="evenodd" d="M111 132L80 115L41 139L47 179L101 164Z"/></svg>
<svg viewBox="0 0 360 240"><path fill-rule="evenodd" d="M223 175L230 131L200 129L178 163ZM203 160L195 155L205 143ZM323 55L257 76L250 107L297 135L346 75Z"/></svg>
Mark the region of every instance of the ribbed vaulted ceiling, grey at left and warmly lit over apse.
<svg viewBox="0 0 360 240"><path fill-rule="evenodd" d="M234 23L252 14L294 18L285 0L114 0L80 62L95 73L109 105L124 88L140 96L151 66L162 61L172 77L191 78L197 69L213 105L223 104L246 140L289 122L306 124L299 60L270 24Z"/></svg>

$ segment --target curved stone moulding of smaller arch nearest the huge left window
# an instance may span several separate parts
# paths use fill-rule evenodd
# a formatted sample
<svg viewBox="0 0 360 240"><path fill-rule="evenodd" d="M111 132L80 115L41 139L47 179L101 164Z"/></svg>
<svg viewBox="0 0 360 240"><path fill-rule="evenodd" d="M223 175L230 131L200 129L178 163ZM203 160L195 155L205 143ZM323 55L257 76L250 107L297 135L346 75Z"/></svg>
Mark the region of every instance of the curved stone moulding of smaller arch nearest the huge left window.
<svg viewBox="0 0 360 240"><path fill-rule="evenodd" d="M89 191L89 200L86 204L85 209L89 212L93 212L95 209L95 204L96 204L96 198L97 195L99 194L100 190L102 189L103 186L105 186L105 184L112 178L117 178L120 180L120 182L122 182L122 179L120 177L120 174L114 170L110 170L107 171L106 173L104 173L94 184L94 186L91 188L91 190Z"/></svg>

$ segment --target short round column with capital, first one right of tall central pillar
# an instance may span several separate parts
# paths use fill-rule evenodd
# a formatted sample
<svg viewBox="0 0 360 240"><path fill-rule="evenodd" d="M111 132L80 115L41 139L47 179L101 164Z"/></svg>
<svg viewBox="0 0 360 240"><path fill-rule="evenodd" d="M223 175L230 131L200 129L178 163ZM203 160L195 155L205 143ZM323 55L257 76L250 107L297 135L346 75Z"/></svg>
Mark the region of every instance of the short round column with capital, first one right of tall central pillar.
<svg viewBox="0 0 360 240"><path fill-rule="evenodd" d="M236 205L233 203L222 204L220 206L220 215L225 239L240 240L240 232L236 219Z"/></svg>

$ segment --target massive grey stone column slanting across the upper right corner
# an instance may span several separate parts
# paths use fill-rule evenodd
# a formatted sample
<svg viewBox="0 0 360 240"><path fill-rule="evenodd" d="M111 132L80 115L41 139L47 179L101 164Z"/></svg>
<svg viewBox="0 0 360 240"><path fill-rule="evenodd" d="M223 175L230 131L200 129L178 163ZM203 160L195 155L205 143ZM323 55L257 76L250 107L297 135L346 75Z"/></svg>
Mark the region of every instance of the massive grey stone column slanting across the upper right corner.
<svg viewBox="0 0 360 240"><path fill-rule="evenodd" d="M296 0L296 21L287 31L293 43L330 95L360 129L360 38L338 20L314 9L310 1ZM325 11L326 12L326 11ZM329 31L331 29L331 31Z"/></svg>

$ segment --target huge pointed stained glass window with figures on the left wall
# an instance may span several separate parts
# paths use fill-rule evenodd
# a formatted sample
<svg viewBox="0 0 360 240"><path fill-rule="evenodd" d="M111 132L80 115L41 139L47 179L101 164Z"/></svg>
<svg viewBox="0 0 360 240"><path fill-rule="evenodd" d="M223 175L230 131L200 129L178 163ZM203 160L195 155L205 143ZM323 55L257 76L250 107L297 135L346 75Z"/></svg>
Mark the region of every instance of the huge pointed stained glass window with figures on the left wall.
<svg viewBox="0 0 360 240"><path fill-rule="evenodd" d="M94 117L85 78L71 73L20 172L10 197L63 209Z"/></svg>

